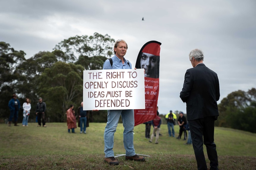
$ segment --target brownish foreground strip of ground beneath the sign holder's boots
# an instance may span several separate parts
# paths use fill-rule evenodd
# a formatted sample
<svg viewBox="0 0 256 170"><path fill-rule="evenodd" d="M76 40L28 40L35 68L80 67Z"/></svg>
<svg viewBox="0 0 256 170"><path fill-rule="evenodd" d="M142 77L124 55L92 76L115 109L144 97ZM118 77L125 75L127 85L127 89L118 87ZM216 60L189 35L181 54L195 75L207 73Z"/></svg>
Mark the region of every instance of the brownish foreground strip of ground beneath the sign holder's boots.
<svg viewBox="0 0 256 170"><path fill-rule="evenodd" d="M154 154L145 162L127 161L118 157L120 165L110 166L103 161L104 155L44 155L44 156L1 156L1 170L82 170L82 169L197 169L194 155ZM207 159L207 166L209 160ZM219 156L219 169L255 170L256 158L244 156Z"/></svg>

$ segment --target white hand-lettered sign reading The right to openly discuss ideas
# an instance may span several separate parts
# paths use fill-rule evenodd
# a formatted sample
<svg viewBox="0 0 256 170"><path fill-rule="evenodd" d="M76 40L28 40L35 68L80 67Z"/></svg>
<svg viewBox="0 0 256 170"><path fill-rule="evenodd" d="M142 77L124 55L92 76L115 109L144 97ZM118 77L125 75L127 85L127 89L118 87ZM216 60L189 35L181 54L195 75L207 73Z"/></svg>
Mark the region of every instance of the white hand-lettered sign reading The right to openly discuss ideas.
<svg viewBox="0 0 256 170"><path fill-rule="evenodd" d="M83 71L83 110L145 109L144 69Z"/></svg>

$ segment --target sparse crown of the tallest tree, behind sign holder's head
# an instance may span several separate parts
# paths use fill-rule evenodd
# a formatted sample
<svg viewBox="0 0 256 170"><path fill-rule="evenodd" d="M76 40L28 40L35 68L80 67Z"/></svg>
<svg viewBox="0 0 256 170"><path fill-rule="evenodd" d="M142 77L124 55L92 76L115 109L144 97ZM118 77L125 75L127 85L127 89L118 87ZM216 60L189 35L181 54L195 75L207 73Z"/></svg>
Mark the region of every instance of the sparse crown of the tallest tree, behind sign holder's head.
<svg viewBox="0 0 256 170"><path fill-rule="evenodd" d="M55 49L64 52L64 62L81 64L86 70L102 69L103 62L113 54L114 43L108 34L94 33L64 39Z"/></svg>

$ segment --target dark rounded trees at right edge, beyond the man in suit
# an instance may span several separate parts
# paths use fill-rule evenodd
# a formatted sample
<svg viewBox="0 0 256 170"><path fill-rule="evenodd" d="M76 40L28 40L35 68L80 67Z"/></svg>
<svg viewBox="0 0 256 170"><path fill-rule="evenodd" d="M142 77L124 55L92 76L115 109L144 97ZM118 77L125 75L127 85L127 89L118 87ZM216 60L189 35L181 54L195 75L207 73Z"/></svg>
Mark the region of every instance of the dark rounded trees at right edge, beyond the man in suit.
<svg viewBox="0 0 256 170"><path fill-rule="evenodd" d="M218 104L217 126L256 132L256 89L237 90L223 98Z"/></svg>

